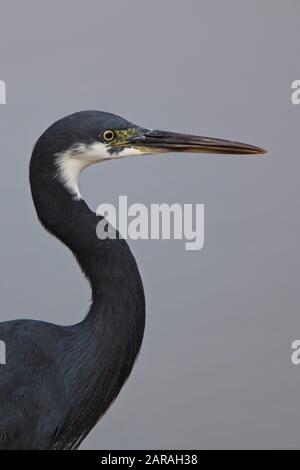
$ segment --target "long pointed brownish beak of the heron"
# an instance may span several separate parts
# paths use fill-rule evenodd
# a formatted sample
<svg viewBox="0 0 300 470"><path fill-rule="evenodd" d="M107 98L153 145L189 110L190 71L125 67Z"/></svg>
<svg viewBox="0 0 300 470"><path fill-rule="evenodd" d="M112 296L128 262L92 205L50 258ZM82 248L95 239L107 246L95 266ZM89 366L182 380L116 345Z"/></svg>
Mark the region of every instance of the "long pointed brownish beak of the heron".
<svg viewBox="0 0 300 470"><path fill-rule="evenodd" d="M143 153L192 152L235 155L259 155L266 150L254 145L231 140L178 134L174 132L140 129L132 145L141 148Z"/></svg>

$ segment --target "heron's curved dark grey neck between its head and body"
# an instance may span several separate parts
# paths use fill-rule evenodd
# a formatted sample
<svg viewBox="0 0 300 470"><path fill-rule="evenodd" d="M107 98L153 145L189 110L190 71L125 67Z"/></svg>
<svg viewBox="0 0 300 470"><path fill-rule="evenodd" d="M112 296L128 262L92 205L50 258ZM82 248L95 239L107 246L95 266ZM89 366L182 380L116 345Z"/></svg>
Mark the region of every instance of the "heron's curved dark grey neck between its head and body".
<svg viewBox="0 0 300 470"><path fill-rule="evenodd" d="M102 217L84 200L75 199L57 177L57 165L52 162L45 167L45 160L49 159L32 156L32 197L42 225L72 251L90 282L92 305L80 325L93 337L100 330L119 335L120 341L127 336L130 347L135 345L135 357L145 322L143 286L135 259L125 240L97 237L96 227Z"/></svg>

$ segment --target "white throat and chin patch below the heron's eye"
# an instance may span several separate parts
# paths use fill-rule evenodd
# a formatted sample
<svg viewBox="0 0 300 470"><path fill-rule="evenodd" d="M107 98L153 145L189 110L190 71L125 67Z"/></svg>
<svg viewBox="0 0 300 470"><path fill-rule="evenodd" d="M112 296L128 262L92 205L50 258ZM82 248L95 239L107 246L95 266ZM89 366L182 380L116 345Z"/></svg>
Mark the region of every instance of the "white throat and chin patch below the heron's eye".
<svg viewBox="0 0 300 470"><path fill-rule="evenodd" d="M55 155L57 159L58 177L64 186L72 193L74 199L82 199L79 188L78 178L82 170L94 163L115 158L124 158L134 155L140 155L142 152L137 148L124 148L120 152L110 153L108 145L102 142L95 142L90 145L78 145L65 152Z"/></svg>

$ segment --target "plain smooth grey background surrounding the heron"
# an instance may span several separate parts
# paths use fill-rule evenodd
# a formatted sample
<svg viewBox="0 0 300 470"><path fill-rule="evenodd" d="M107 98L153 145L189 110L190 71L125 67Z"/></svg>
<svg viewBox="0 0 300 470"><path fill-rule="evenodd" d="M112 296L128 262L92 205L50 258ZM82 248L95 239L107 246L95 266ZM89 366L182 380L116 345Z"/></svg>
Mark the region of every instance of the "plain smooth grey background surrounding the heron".
<svg viewBox="0 0 300 470"><path fill-rule="evenodd" d="M147 327L136 367L83 449L299 447L297 0L1 1L0 319L82 319L89 289L39 226L34 141L59 117L246 141L265 158L169 155L89 168L92 207L205 203L205 248L130 242Z"/></svg>

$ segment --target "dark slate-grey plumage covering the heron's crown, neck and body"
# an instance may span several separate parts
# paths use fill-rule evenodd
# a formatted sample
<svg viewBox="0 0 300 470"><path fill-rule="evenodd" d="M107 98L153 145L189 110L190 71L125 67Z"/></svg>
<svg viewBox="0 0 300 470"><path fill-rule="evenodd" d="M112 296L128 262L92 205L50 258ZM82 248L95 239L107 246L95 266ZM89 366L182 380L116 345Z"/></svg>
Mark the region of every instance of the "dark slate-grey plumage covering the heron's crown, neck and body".
<svg viewBox="0 0 300 470"><path fill-rule="evenodd" d="M37 214L77 258L93 300L73 326L0 323L7 348L0 366L0 449L76 449L118 395L140 349L145 303L134 257L125 240L97 238L101 217L72 198L53 158L75 142L92 141L103 127L128 124L116 120L76 113L35 145L30 183Z"/></svg>

